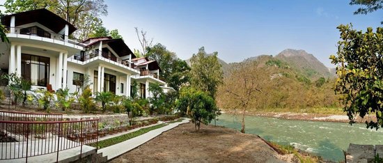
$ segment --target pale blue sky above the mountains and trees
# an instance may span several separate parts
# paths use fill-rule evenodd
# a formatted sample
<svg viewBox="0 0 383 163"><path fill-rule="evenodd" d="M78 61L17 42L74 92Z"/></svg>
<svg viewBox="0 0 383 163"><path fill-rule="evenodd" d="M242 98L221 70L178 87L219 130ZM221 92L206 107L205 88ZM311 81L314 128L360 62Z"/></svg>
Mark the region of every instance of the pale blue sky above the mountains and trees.
<svg viewBox="0 0 383 163"><path fill-rule="evenodd" d="M0 0L3 3L5 0ZM147 31L153 43L161 43L180 59L189 59L200 47L218 52L227 63L251 56L279 54L283 49L304 49L327 67L336 54L339 24L354 29L376 29L383 10L354 15L359 6L350 0L105 0L107 29L118 29L125 43L141 49L134 27Z"/></svg>

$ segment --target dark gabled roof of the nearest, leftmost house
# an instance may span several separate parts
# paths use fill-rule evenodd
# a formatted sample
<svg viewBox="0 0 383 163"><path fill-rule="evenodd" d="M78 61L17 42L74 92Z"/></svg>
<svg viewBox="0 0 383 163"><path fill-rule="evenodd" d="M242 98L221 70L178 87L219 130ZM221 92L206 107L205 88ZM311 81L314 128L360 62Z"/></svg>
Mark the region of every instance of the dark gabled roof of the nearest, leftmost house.
<svg viewBox="0 0 383 163"><path fill-rule="evenodd" d="M65 24L69 26L69 34L76 31L76 27L59 17L58 15L52 13L51 11L41 8L38 10L29 10L22 13L15 13L12 15L6 15L1 18L1 22L3 25L10 25L10 17L15 16L15 26L20 26L23 24L29 24L32 22L38 22L43 26L46 26L48 29L51 29L55 33L60 32L63 28L65 28Z"/></svg>

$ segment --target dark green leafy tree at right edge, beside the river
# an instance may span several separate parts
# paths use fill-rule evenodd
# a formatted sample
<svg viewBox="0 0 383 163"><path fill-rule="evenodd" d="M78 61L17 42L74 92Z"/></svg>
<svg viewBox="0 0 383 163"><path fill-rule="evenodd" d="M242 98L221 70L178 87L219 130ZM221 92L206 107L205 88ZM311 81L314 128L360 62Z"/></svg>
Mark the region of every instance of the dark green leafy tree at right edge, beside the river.
<svg viewBox="0 0 383 163"><path fill-rule="evenodd" d="M352 29L350 25L338 26L341 40L338 41L337 56L331 55L336 65L336 93L350 124L359 114L368 115L367 127L383 127L383 28L376 32L368 28L365 33ZM375 114L377 121L370 116Z"/></svg>

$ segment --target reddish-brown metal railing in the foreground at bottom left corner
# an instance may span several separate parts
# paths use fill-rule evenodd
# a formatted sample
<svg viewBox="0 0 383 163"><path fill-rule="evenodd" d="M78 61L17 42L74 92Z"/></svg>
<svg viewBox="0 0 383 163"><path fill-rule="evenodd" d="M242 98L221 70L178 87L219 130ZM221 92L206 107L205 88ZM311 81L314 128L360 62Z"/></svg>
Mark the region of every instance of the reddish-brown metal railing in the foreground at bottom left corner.
<svg viewBox="0 0 383 163"><path fill-rule="evenodd" d="M81 121L0 121L0 160L57 153L98 142L98 119Z"/></svg>

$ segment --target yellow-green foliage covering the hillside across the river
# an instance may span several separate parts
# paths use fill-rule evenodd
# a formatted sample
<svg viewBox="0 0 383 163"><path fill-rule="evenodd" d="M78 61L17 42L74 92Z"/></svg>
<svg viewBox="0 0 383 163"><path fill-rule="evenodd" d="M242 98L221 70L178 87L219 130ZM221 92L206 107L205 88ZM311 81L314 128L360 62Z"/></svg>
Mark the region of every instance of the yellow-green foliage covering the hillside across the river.
<svg viewBox="0 0 383 163"><path fill-rule="evenodd" d="M230 74L239 71L235 69L244 64L247 65L243 69L244 71L253 77L261 77L262 80L258 79L257 82L260 84L261 90L265 92L249 102L247 111L326 112L328 114L334 110L333 108L341 107L338 102L338 95L334 94L334 79L329 79L321 87L317 87L315 82L300 81L298 77L304 77L304 75L298 70L286 68L289 67L288 63L282 62L283 64L279 68L278 66L265 65L267 61L269 58L259 57L254 63L249 63L251 61L231 63L224 78L224 84L218 89L216 100L219 108L233 111L233 108L238 105L238 100L228 96L226 91L243 89L243 84L236 83L236 81L243 79L242 76ZM341 111L336 109L336 113L339 112Z"/></svg>

